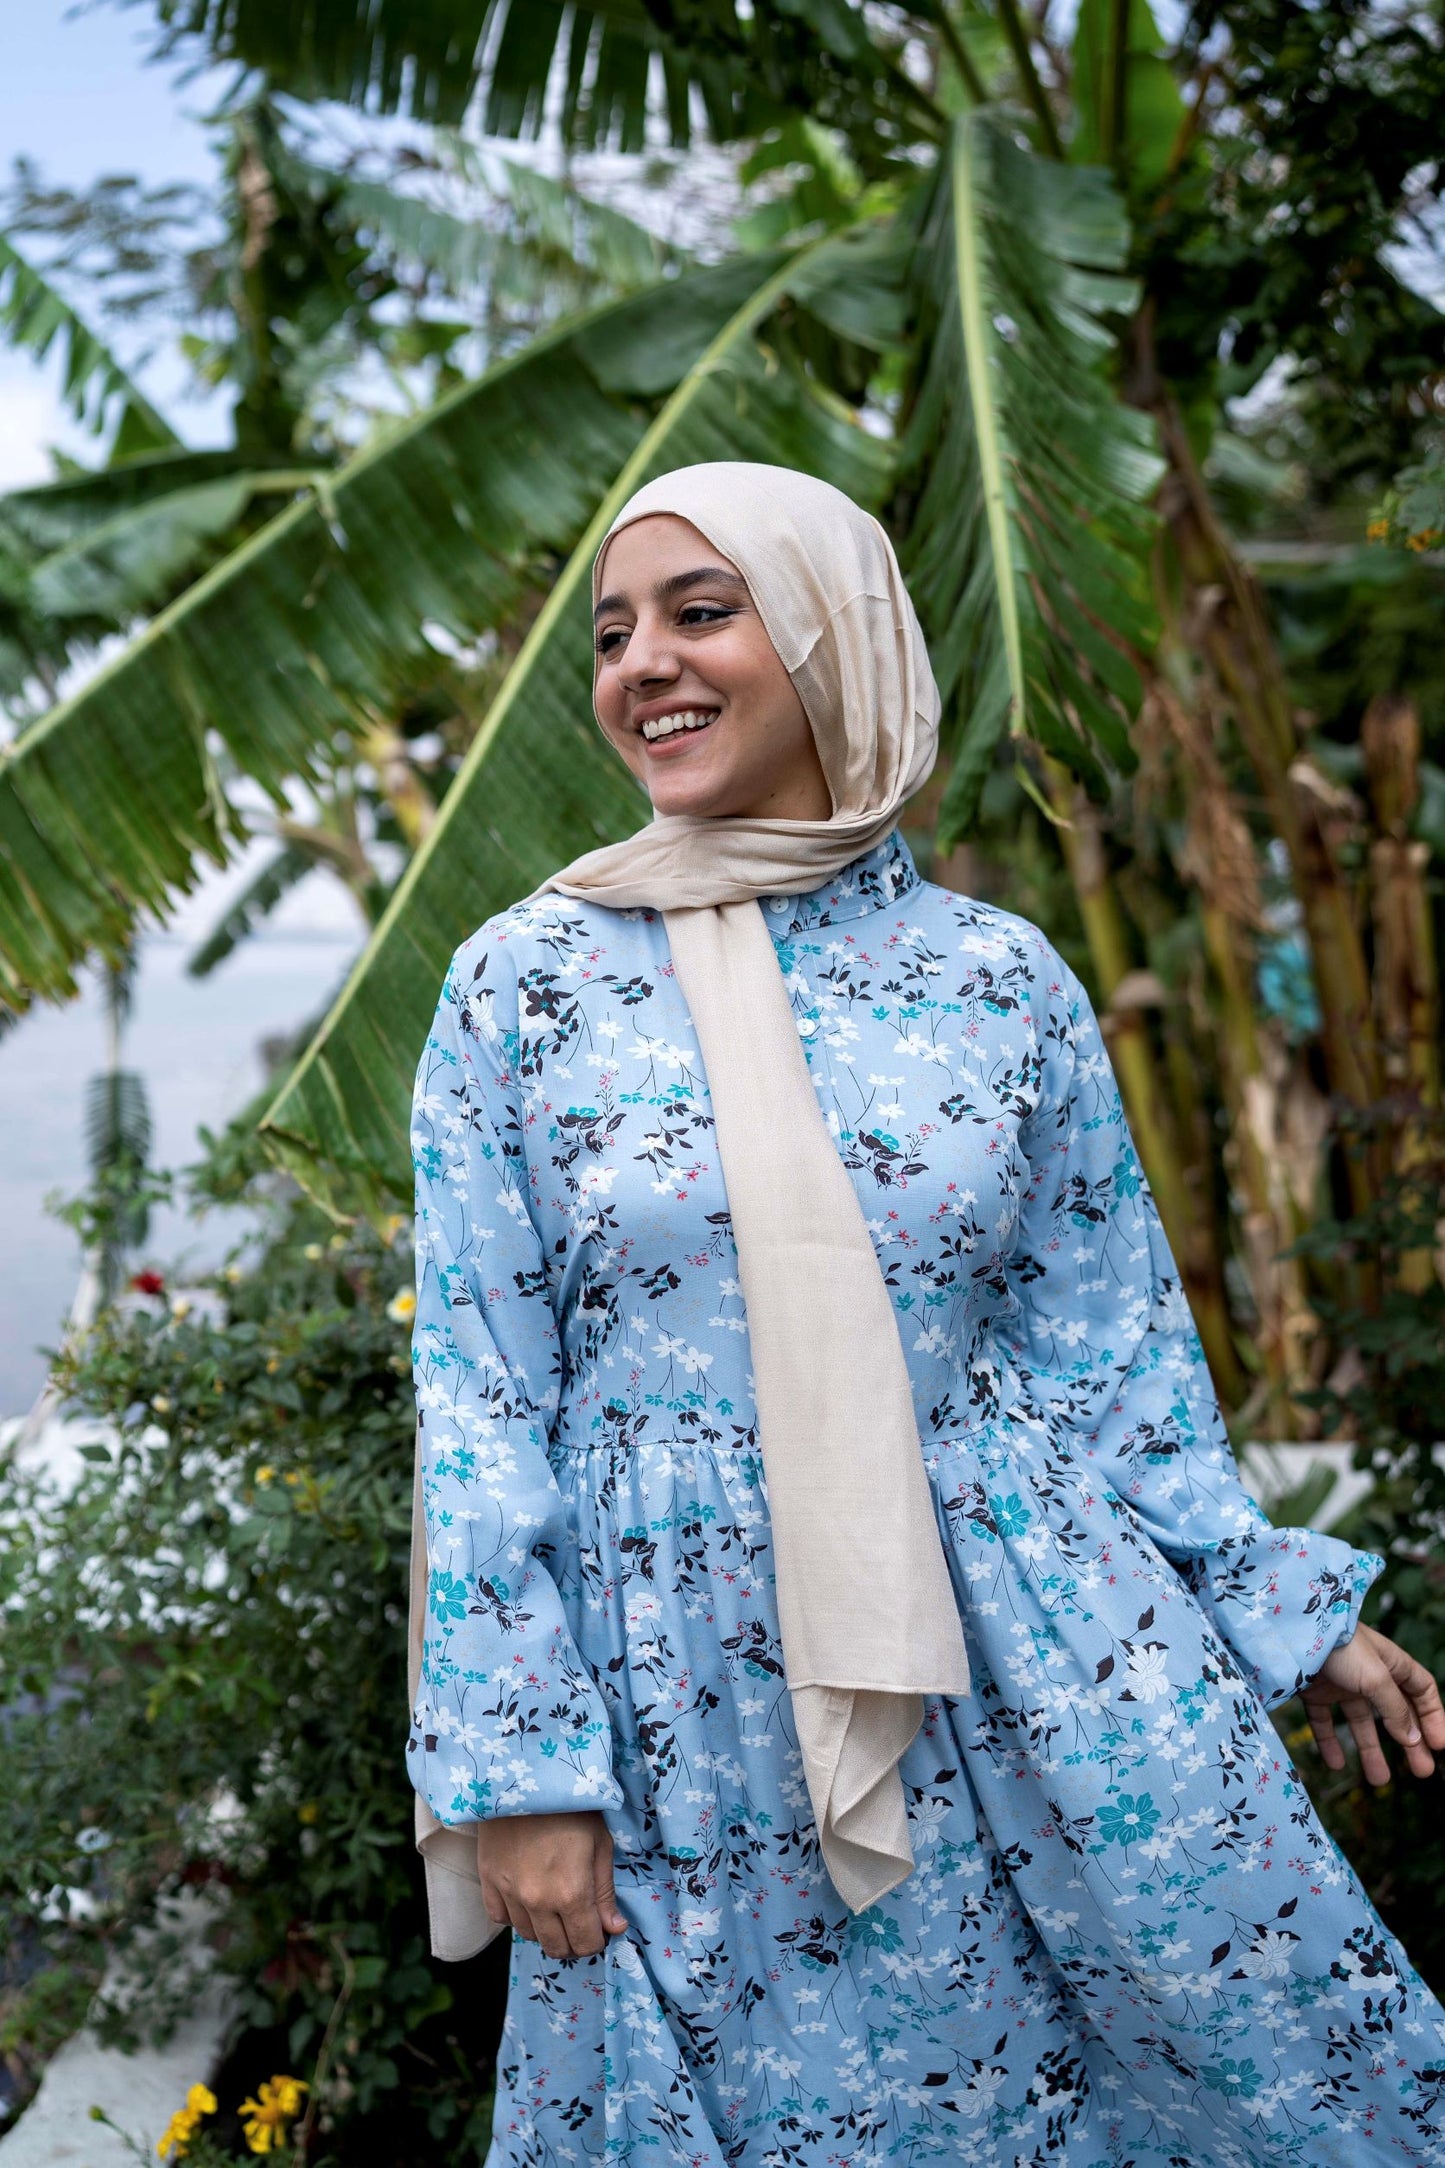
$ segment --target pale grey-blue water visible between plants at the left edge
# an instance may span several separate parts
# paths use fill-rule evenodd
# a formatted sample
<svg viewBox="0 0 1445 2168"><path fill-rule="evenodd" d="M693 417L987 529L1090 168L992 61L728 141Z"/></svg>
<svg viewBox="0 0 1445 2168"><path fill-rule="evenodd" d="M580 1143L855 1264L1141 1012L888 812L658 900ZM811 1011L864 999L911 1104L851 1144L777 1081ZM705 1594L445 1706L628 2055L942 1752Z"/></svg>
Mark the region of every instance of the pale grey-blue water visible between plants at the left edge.
<svg viewBox="0 0 1445 2168"><path fill-rule="evenodd" d="M193 943L152 937L141 952L126 1064L145 1077L152 1162L197 1156L201 1123L217 1130L264 1084L262 1038L295 1032L327 1008L355 954L349 937L271 937L245 943L208 980L184 973ZM45 1212L52 1192L84 1188L84 1086L104 1067L100 991L67 1008L37 1008L0 1038L0 1418L19 1416L45 1379L80 1273L80 1244ZM214 1264L245 1218L204 1223L165 1210L147 1255Z"/></svg>

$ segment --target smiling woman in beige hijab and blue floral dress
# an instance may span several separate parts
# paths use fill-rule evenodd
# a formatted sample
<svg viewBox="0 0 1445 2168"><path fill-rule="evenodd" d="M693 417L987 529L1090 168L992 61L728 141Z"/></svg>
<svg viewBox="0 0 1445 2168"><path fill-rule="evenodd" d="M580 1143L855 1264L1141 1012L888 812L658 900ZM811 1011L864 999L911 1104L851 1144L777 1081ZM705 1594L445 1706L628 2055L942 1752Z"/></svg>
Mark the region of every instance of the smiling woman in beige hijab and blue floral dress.
<svg viewBox="0 0 1445 2168"><path fill-rule="evenodd" d="M435 1947L513 1930L492 2164L1445 2159L1445 2012L1265 1717L1382 1782L1439 1695L1239 1487L1083 989L914 869L882 529L685 468L594 601L654 820L461 945L416 1097L409 1769Z"/></svg>

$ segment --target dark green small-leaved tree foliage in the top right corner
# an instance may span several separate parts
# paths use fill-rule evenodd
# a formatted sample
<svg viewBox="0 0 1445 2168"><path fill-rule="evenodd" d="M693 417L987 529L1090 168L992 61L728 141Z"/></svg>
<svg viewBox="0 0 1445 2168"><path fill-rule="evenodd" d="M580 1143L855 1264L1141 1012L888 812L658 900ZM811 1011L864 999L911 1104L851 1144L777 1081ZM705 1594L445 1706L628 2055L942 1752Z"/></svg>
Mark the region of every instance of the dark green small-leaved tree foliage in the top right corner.
<svg viewBox="0 0 1445 2168"><path fill-rule="evenodd" d="M1213 126L1140 236L1159 366L1235 395L1285 362L1322 494L1387 479L1445 360L1445 317L1397 254L1441 193L1436 28L1369 0L1200 0L1176 65Z"/></svg>

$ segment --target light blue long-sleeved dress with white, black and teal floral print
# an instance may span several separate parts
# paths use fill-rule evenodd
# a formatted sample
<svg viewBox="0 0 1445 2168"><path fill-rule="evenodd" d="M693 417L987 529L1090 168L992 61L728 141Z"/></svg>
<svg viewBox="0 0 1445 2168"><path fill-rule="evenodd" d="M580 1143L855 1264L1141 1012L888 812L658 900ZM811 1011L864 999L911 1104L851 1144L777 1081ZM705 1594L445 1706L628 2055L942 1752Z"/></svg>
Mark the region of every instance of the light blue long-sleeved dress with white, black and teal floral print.
<svg viewBox="0 0 1445 2168"><path fill-rule="evenodd" d="M446 1823L598 1808L628 1919L598 1958L513 1940L490 2168L1445 2161L1445 2012L1265 1715L1380 1559L1241 1489L1083 989L897 830L763 908L973 1689L903 1760L914 1873L851 1917L663 919L490 919L416 1086L409 1771Z"/></svg>

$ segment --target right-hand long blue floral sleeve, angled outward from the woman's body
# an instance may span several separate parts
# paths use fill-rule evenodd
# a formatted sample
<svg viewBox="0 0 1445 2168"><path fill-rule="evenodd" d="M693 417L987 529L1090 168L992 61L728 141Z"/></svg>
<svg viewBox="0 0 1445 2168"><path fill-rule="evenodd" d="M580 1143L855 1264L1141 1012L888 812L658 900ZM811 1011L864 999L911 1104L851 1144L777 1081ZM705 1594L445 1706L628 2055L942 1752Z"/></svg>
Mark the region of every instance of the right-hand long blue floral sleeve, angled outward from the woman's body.
<svg viewBox="0 0 1445 2168"><path fill-rule="evenodd" d="M1003 1329L1023 1411L1072 1433L1261 1700L1280 1702L1350 1639L1384 1561L1274 1528L1244 1489L1098 1021L1046 943L1040 997L1040 1097L1023 1123Z"/></svg>

